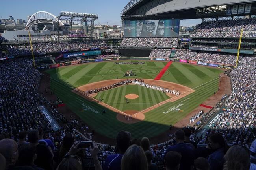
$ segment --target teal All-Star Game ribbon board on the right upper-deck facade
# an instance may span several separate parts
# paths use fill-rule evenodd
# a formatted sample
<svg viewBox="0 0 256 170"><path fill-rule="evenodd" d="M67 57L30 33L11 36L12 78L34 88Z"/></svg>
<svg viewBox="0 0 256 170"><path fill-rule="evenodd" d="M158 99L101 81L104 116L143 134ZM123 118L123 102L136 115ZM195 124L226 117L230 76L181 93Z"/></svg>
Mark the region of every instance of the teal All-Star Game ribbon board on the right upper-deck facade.
<svg viewBox="0 0 256 170"><path fill-rule="evenodd" d="M225 52L225 53L237 53L237 49L224 49L224 48L203 48L203 47L189 47L191 50L199 50L199 51L217 51L217 52ZM243 50L241 49L241 54L254 54L253 50Z"/></svg>

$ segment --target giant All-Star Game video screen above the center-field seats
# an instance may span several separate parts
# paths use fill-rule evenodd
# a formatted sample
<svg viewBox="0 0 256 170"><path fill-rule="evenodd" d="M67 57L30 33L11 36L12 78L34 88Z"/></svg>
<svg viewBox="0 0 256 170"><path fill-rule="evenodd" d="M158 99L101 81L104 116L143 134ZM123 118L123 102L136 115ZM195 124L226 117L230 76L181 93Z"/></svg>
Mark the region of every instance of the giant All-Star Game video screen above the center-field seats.
<svg viewBox="0 0 256 170"><path fill-rule="evenodd" d="M180 20L124 21L124 37L178 37Z"/></svg>

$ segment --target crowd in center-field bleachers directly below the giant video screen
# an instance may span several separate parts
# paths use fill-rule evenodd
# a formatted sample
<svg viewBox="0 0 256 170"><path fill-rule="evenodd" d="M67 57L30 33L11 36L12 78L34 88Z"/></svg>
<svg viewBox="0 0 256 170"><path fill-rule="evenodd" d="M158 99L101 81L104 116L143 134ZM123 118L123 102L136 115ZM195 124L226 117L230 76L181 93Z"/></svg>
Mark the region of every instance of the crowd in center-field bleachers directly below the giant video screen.
<svg viewBox="0 0 256 170"><path fill-rule="evenodd" d="M174 37L147 37L147 38L124 38L120 45L121 47L173 47L178 46L178 38Z"/></svg>

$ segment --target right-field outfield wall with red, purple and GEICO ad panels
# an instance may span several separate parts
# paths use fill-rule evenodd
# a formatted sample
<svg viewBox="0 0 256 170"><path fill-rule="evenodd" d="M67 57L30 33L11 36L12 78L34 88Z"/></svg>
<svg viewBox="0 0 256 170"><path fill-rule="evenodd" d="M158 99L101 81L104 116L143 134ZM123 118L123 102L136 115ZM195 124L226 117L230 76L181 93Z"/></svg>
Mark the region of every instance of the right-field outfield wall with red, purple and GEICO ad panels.
<svg viewBox="0 0 256 170"><path fill-rule="evenodd" d="M217 67L217 68L224 68L224 69L234 69L234 68L236 68L236 66L232 66L232 65L228 65L228 64L200 62L200 61L194 61L194 60L184 60L184 59L179 59L179 58L176 58L175 61L189 63L189 64L202 65L202 66L211 66L211 67Z"/></svg>

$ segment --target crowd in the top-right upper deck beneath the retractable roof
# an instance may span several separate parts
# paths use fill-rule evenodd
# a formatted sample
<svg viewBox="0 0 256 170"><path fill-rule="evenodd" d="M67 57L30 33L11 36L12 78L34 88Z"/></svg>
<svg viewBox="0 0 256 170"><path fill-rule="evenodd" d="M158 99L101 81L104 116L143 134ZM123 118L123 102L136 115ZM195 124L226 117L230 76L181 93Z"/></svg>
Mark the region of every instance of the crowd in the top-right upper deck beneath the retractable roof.
<svg viewBox="0 0 256 170"><path fill-rule="evenodd" d="M191 37L256 37L256 19L219 20L202 22Z"/></svg>

